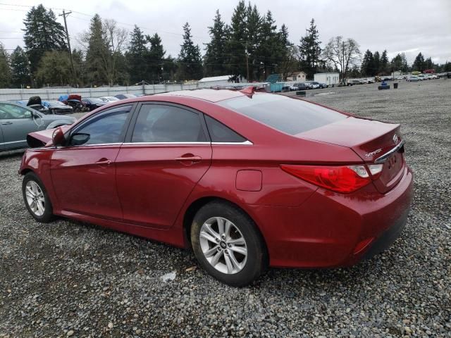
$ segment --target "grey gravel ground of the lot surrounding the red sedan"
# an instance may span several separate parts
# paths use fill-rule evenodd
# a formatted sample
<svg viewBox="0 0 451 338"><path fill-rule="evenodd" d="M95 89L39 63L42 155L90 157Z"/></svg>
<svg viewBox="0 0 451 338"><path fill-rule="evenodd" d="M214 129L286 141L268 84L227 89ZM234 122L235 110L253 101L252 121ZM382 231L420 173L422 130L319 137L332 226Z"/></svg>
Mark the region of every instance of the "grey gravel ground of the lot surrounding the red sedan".
<svg viewBox="0 0 451 338"><path fill-rule="evenodd" d="M270 269L230 288L190 251L70 220L36 223L20 193L20 154L6 154L0 337L451 337L451 80L307 99L402 123L416 192L388 251L352 268Z"/></svg>

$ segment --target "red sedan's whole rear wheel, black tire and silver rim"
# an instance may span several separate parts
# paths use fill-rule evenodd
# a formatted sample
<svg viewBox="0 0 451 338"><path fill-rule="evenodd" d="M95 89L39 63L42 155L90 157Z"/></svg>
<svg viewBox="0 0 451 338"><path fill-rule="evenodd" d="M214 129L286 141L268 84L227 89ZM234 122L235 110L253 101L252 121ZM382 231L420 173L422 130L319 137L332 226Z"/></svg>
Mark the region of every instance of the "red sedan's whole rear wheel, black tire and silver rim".
<svg viewBox="0 0 451 338"><path fill-rule="evenodd" d="M196 213L191 243L202 267L233 287L250 284L268 264L266 247L254 222L226 202L211 202Z"/></svg>

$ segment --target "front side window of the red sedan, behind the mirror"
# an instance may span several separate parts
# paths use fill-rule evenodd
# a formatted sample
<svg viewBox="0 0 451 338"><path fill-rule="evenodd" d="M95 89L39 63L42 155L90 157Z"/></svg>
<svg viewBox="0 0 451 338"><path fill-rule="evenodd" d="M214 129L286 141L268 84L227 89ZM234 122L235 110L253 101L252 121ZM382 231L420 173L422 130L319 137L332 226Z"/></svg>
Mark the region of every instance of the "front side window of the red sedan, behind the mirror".
<svg viewBox="0 0 451 338"><path fill-rule="evenodd" d="M132 106L109 109L90 118L74 133L89 134L89 140L84 144L109 144L123 142L125 121Z"/></svg>

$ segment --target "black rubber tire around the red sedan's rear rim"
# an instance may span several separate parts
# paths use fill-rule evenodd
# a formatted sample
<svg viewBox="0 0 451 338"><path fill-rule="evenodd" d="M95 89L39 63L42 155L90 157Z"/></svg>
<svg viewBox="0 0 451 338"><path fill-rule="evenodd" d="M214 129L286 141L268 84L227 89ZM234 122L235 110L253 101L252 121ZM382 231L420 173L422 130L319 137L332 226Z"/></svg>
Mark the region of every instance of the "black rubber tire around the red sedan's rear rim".
<svg viewBox="0 0 451 338"><path fill-rule="evenodd" d="M222 273L207 261L200 244L200 232L202 225L211 218L226 218L240 231L242 238L245 239L247 247L247 258L242 270L236 273ZM220 282L232 287L244 287L264 273L268 267L268 255L266 246L256 225L249 216L237 206L225 201L213 201L206 204L197 211L191 226L191 244L194 255L202 268ZM218 244L219 246L219 244ZM227 248L228 249L228 248ZM224 251L227 251L225 249ZM231 249L229 249L230 252ZM238 253L239 255L239 253ZM224 253L224 258L226 253Z"/></svg>

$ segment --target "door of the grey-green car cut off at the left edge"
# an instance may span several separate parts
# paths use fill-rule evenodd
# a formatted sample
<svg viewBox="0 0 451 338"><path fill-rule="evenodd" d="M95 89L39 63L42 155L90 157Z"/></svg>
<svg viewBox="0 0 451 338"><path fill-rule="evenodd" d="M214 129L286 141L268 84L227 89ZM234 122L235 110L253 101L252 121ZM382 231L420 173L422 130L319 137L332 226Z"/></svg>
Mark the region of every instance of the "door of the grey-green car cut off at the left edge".
<svg viewBox="0 0 451 338"><path fill-rule="evenodd" d="M17 104L0 103L0 125L4 150L27 146L27 134L39 130L40 118L33 118L32 111Z"/></svg>

